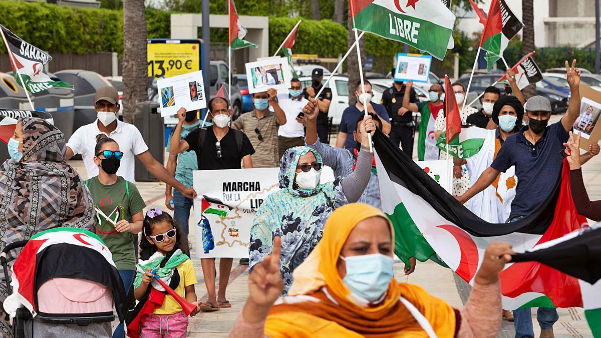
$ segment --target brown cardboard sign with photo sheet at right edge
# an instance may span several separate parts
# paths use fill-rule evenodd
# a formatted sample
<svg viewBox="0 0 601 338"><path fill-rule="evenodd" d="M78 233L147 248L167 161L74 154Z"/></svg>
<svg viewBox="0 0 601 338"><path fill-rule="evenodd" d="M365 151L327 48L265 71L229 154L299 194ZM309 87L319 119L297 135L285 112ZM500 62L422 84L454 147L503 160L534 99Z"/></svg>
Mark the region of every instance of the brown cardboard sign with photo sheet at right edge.
<svg viewBox="0 0 601 338"><path fill-rule="evenodd" d="M580 115L573 125L574 134L580 134L580 147L588 151L590 144L599 142L601 127L598 126L601 115L601 93L587 85L580 85Z"/></svg>

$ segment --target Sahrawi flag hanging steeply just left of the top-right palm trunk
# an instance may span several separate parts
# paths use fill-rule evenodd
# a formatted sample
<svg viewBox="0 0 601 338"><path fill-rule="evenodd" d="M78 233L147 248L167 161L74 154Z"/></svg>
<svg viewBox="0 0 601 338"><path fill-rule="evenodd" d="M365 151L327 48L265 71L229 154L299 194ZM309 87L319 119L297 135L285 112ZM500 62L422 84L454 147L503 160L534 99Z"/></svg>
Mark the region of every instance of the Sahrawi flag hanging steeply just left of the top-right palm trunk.
<svg viewBox="0 0 601 338"><path fill-rule="evenodd" d="M523 28L523 23L513 14L505 4L505 0L492 0L486 18L486 25L482 32L480 47L487 51L484 58L488 62L488 70L502 55L509 40Z"/></svg>

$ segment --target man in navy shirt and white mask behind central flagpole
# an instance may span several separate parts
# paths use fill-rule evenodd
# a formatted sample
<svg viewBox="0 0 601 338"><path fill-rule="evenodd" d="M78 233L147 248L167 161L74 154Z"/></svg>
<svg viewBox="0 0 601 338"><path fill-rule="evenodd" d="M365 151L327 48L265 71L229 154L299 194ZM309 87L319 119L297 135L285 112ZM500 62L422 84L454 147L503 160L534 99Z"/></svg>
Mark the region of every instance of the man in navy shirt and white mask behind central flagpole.
<svg viewBox="0 0 601 338"><path fill-rule="evenodd" d="M342 113L338 137L336 139L336 147L338 148L344 148L350 151L355 149L355 137L353 137L353 132L357 129L357 118L365 114L365 109L363 108L364 99L365 102L367 102L367 112L377 114L380 117L384 134L388 135L390 133L390 119L386 108L384 108L383 105L371 102L373 91L371 90L371 83L369 81L365 80L364 87L365 94L361 88L361 81L357 82L355 87L355 97L357 102L354 105L348 106Z"/></svg>

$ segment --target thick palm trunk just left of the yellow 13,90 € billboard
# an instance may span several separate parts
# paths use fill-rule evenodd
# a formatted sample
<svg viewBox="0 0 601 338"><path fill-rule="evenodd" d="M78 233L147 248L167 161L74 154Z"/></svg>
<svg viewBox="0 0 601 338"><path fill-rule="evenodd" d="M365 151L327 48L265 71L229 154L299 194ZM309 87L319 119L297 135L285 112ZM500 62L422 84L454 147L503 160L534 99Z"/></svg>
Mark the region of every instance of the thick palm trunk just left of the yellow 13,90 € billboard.
<svg viewBox="0 0 601 338"><path fill-rule="evenodd" d="M136 103L148 98L145 9L144 0L123 1L123 119L128 123Z"/></svg>

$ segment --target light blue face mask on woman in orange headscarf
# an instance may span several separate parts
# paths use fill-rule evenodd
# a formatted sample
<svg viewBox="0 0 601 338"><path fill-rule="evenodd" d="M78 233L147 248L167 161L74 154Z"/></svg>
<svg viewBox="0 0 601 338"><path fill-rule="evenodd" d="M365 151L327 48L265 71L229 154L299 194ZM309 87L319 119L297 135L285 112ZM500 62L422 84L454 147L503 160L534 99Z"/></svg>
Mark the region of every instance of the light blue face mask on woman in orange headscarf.
<svg viewBox="0 0 601 338"><path fill-rule="evenodd" d="M388 290L394 277L392 257L378 253L340 258L346 263L342 281L355 295L373 303Z"/></svg>

